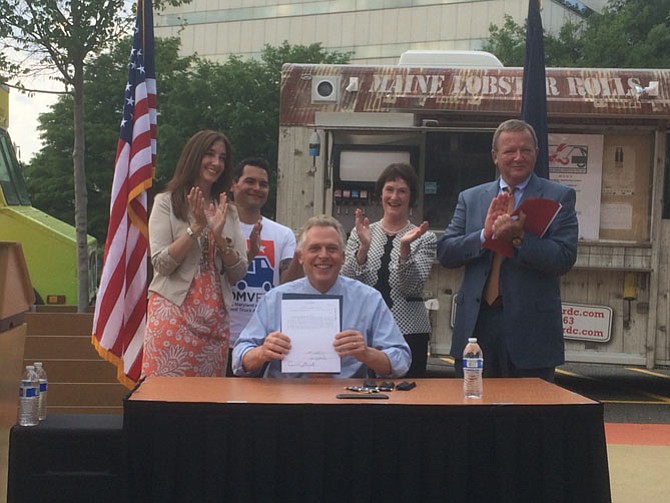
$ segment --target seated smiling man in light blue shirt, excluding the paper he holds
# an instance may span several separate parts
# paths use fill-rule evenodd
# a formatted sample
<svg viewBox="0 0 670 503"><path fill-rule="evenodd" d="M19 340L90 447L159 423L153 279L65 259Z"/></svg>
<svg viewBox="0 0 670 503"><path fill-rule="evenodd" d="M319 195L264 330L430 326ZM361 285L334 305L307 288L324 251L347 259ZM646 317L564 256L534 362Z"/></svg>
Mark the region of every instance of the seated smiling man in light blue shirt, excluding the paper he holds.
<svg viewBox="0 0 670 503"><path fill-rule="evenodd" d="M342 331L333 348L341 357L334 377L402 377L411 354L391 311L372 287L340 276L344 264L344 230L332 217L310 218L298 240L298 259L305 278L270 290L260 301L233 350L233 372L239 376L306 377L284 374L281 360L291 339L281 332L281 301L285 293L342 296Z"/></svg>

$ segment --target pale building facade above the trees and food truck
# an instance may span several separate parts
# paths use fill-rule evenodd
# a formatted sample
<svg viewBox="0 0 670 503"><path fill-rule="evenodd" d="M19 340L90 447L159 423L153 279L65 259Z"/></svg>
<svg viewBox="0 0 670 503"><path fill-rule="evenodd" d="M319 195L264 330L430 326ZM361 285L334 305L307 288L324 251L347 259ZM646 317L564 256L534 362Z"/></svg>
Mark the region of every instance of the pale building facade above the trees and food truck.
<svg viewBox="0 0 670 503"><path fill-rule="evenodd" d="M543 26L556 33L605 3L543 0ZM506 14L523 23L527 12L528 0L193 0L157 13L155 34L180 37L183 55L220 62L287 41L351 51L353 63L396 64L410 49L481 49L491 24Z"/></svg>

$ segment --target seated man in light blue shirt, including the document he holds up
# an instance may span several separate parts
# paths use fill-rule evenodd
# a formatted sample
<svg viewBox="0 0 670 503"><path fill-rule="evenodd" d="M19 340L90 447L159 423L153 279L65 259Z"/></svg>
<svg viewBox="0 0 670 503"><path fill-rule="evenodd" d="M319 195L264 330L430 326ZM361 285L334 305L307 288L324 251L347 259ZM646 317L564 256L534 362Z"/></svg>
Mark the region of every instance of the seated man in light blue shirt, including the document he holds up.
<svg viewBox="0 0 670 503"><path fill-rule="evenodd" d="M345 240L334 218L307 221L297 246L305 278L270 290L260 301L235 344L235 375L405 375L409 346L381 294L340 276Z"/></svg>

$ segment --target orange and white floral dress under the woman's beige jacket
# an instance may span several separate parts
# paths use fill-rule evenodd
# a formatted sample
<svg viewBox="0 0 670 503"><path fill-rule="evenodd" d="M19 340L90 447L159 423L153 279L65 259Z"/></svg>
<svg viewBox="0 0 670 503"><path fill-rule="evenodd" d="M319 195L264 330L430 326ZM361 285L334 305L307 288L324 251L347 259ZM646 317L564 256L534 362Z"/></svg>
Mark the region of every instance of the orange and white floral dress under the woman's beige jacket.
<svg viewBox="0 0 670 503"><path fill-rule="evenodd" d="M182 305L157 293L149 297L144 376L225 375L230 325L214 263L216 247L211 233L200 239L203 253Z"/></svg>

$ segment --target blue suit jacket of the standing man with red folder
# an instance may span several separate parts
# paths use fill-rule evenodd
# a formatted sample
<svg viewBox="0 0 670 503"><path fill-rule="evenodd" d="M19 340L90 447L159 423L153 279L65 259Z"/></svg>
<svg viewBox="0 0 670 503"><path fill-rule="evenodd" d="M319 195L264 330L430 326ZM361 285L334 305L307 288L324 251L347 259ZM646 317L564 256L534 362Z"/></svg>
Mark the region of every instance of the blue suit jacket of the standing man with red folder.
<svg viewBox="0 0 670 503"><path fill-rule="evenodd" d="M465 266L451 344L451 355L456 358L463 356L483 302L493 253L482 248L480 235L498 190L496 180L463 191L451 223L438 242L437 256L443 266ZM520 369L554 367L564 362L560 276L577 259L575 191L533 174L522 200L530 197L553 199L562 208L541 239L526 231L522 245L501 266L502 330L510 358Z"/></svg>

